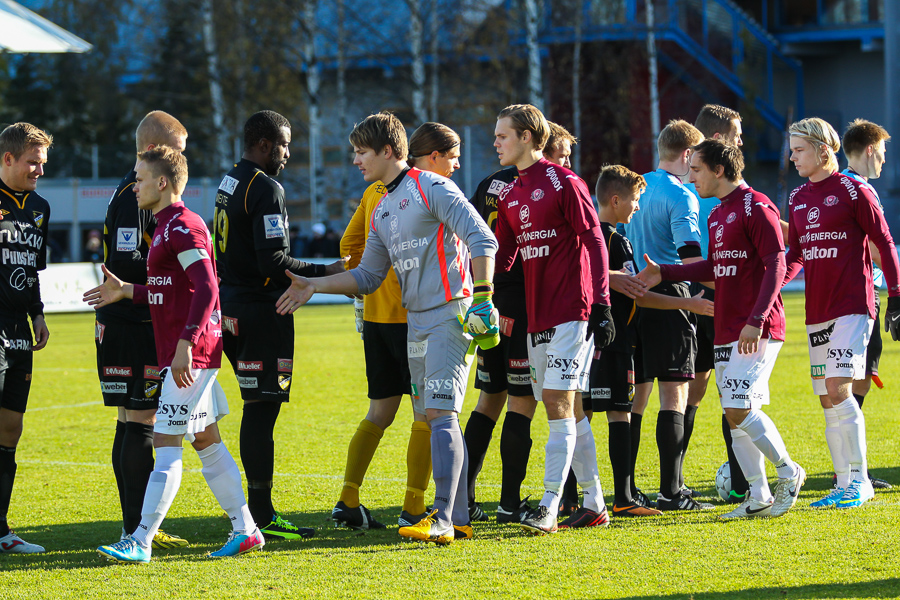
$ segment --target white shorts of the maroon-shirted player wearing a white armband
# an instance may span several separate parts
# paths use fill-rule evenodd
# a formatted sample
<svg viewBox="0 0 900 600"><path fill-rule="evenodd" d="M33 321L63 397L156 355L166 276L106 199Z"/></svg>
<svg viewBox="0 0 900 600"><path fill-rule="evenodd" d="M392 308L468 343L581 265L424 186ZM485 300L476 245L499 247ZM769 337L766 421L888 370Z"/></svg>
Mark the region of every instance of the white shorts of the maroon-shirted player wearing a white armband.
<svg viewBox="0 0 900 600"><path fill-rule="evenodd" d="M193 385L179 388L172 378L172 369L166 369L153 431L184 435L188 442L193 442L195 433L227 415L228 400L216 380L218 373L218 369L191 369Z"/></svg>

